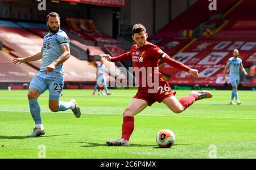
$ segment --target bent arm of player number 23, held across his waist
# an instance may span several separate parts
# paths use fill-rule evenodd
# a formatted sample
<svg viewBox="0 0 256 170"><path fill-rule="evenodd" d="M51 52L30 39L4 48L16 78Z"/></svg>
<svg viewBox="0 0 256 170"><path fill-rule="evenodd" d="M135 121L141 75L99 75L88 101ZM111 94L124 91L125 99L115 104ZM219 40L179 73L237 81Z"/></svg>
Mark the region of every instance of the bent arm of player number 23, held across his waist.
<svg viewBox="0 0 256 170"><path fill-rule="evenodd" d="M69 59L70 57L69 44L61 45L61 51L62 51L62 55L59 57L59 59L53 61L53 63L47 66L46 74L48 72L52 72L57 65L62 64Z"/></svg>

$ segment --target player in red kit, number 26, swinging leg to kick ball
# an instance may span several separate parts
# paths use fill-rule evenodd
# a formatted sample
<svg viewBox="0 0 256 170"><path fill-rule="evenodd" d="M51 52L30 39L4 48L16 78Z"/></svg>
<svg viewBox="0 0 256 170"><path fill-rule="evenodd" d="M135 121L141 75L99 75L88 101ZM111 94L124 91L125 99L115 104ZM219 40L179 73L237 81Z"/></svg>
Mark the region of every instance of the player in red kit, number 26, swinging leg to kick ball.
<svg viewBox="0 0 256 170"><path fill-rule="evenodd" d="M130 52L117 57L106 54L100 55L112 62L132 60L135 78L139 86L137 94L123 111L122 136L119 139L107 141L106 143L109 146L129 146L129 139L134 130L134 116L156 101L163 102L174 113L181 113L193 102L212 97L212 94L207 91L191 92L189 96L181 97L178 101L174 96L175 92L172 92L168 82L164 81L162 74L158 72L159 59L174 68L190 73L193 77L199 76L198 71L171 59L162 49L147 42L147 36L146 28L142 24L135 24L133 26L133 40L136 44L131 47ZM143 71L146 71L146 73L143 73ZM154 81L152 83L154 88L152 88L152 85L144 84L150 79ZM154 89L156 90L154 91Z"/></svg>

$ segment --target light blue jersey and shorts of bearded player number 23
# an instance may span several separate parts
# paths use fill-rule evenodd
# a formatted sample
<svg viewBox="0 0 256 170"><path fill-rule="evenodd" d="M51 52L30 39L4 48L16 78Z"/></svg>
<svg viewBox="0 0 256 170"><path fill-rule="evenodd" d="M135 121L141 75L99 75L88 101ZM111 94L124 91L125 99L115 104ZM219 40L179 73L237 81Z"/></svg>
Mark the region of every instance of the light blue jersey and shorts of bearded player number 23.
<svg viewBox="0 0 256 170"><path fill-rule="evenodd" d="M57 65L53 72L48 72L47 74L45 72L46 68L62 55L61 45L69 43L70 41L67 34L62 30L44 36L40 71L30 82L29 88L37 89L40 94L48 89L49 100L59 100L60 94L64 88L64 72L62 68L63 64Z"/></svg>

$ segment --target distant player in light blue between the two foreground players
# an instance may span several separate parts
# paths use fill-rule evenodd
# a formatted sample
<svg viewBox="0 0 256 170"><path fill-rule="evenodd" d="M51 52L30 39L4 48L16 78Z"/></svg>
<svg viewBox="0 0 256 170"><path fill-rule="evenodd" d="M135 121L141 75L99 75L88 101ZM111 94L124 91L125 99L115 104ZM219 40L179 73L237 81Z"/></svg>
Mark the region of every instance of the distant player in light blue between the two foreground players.
<svg viewBox="0 0 256 170"><path fill-rule="evenodd" d="M105 73L106 67L104 65L104 61L101 59L101 64L97 65L97 83L94 86L93 89L93 95L96 95L96 90L98 88L104 88L106 95L110 95L111 93L109 93L108 87L106 86L106 73ZM104 93L101 93L102 95L104 95ZM101 95L98 92L98 95Z"/></svg>

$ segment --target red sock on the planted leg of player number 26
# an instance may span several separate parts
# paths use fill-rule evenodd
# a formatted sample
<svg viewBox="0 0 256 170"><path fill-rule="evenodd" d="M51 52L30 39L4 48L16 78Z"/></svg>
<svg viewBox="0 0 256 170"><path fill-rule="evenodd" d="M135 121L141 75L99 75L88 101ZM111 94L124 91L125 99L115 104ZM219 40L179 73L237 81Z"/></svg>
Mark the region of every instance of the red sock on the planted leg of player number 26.
<svg viewBox="0 0 256 170"><path fill-rule="evenodd" d="M134 117L123 117L121 138L129 141L131 133L133 133L133 130L134 130Z"/></svg>

